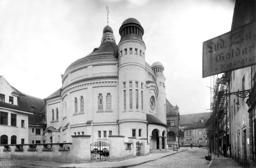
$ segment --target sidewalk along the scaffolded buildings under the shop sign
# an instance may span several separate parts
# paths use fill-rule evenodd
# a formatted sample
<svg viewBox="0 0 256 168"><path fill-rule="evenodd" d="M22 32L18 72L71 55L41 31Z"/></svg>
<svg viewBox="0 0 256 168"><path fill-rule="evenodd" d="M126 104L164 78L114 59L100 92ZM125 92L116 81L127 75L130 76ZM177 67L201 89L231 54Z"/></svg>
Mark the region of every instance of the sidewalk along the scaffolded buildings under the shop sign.
<svg viewBox="0 0 256 168"><path fill-rule="evenodd" d="M243 166L238 166L237 162L232 158L226 158L222 155L219 155L219 158L217 155L212 155L212 160L209 163L207 168L219 168L219 167L225 167L225 168L241 168Z"/></svg>

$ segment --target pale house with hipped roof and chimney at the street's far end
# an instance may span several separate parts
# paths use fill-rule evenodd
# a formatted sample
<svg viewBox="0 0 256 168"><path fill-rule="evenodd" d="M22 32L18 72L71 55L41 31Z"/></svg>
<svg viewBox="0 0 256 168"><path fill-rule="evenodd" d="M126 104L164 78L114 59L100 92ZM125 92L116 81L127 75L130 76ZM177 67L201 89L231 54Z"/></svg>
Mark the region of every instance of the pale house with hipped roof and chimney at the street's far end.
<svg viewBox="0 0 256 168"><path fill-rule="evenodd" d="M207 132L205 123L207 119L203 117L195 122L194 124L184 128L184 146L190 146L192 143L193 146L198 146L201 144L202 146L207 146Z"/></svg>

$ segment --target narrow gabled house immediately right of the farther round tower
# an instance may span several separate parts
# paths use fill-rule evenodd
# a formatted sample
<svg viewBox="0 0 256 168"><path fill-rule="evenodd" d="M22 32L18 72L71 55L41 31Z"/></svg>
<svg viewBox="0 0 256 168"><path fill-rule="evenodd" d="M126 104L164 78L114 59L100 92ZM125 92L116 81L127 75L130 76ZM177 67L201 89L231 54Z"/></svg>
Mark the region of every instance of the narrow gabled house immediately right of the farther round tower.
<svg viewBox="0 0 256 168"><path fill-rule="evenodd" d="M179 107L166 100L167 144L179 142Z"/></svg>

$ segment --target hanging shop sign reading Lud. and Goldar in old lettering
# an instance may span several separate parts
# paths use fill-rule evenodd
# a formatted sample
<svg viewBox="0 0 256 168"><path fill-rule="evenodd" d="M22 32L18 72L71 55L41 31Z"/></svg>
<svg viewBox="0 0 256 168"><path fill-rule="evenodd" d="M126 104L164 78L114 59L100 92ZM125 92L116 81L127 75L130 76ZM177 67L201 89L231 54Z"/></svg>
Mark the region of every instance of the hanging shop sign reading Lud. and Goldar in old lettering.
<svg viewBox="0 0 256 168"><path fill-rule="evenodd" d="M203 42L203 78L256 64L256 22Z"/></svg>

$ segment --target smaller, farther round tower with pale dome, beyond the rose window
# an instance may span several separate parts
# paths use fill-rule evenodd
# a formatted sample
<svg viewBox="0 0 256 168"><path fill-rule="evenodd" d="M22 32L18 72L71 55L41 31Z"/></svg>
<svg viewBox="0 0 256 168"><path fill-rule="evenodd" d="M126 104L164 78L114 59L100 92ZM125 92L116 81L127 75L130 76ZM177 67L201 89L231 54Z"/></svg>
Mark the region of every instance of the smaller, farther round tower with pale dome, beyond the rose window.
<svg viewBox="0 0 256 168"><path fill-rule="evenodd" d="M164 67L161 62L155 62L151 65L153 72L156 76L156 84L158 87L157 96L157 118L166 124L166 93L165 93L165 80L163 70Z"/></svg>

